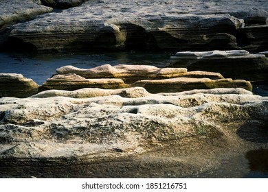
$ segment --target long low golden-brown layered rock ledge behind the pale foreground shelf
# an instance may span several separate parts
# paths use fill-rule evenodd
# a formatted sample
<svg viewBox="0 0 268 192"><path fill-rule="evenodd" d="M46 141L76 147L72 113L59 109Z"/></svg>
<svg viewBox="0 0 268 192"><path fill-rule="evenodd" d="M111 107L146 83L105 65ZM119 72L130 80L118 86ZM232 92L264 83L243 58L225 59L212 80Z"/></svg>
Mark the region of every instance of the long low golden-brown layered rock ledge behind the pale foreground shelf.
<svg viewBox="0 0 268 192"><path fill-rule="evenodd" d="M159 69L146 65L111 66L104 64L93 69L65 66L47 79L40 91L60 89L74 91L79 88L128 88L141 86L149 93L189 91L195 88L245 88L252 85L245 80L225 79L220 73L191 71L185 68Z"/></svg>

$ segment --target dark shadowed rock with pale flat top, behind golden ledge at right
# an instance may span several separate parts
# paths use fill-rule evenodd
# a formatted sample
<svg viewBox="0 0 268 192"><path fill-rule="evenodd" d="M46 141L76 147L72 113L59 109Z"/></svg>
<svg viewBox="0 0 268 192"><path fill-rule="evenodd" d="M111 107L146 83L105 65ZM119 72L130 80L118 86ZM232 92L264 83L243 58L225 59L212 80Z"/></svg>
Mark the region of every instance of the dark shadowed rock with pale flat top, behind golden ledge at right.
<svg viewBox="0 0 268 192"><path fill-rule="evenodd" d="M186 67L188 70L210 70L224 77L267 81L268 58L265 54L250 54L245 50L178 52L171 56L168 67Z"/></svg>

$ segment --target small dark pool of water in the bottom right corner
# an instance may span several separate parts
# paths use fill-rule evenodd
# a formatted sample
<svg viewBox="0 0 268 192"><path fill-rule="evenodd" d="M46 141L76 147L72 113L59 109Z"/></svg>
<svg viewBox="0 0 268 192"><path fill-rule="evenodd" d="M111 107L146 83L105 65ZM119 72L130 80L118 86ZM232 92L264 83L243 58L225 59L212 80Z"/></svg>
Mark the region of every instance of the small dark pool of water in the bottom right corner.
<svg viewBox="0 0 268 192"><path fill-rule="evenodd" d="M249 151L246 158L250 172L245 178L268 178L268 149Z"/></svg>

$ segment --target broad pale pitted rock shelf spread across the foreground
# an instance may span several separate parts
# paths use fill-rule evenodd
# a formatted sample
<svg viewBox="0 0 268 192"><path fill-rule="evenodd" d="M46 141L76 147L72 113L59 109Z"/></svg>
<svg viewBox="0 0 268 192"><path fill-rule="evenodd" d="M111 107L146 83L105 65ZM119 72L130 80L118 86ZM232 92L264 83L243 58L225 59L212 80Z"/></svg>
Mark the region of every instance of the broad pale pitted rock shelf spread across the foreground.
<svg viewBox="0 0 268 192"><path fill-rule="evenodd" d="M258 142L267 146L267 134L261 131L267 129L267 97L229 89L205 92L139 98L5 97L0 105L1 169L31 165L34 170L34 166L45 169L85 163L89 166L87 176L91 177L102 170L92 171L94 165L169 147L185 153L172 158L180 167L196 162L197 156L187 156L197 151L206 154L204 159L214 166L212 162L220 161L230 149L235 156L259 147ZM197 139L198 145L192 145L191 139ZM210 143L216 151L206 153L200 148L202 142ZM183 149L188 145L190 154ZM157 165L157 159L154 162ZM123 169L116 170L121 173ZM186 176L184 172L178 174Z"/></svg>

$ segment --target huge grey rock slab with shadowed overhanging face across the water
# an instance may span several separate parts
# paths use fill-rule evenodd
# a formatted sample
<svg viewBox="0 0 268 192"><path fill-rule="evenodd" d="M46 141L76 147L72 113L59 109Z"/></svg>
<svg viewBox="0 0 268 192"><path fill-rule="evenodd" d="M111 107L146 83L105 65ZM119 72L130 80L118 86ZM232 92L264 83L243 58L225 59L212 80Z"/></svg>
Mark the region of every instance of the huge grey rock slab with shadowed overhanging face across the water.
<svg viewBox="0 0 268 192"><path fill-rule="evenodd" d="M14 25L10 36L37 51L237 48L234 35L243 20L230 14L179 14L177 3L88 1Z"/></svg>

